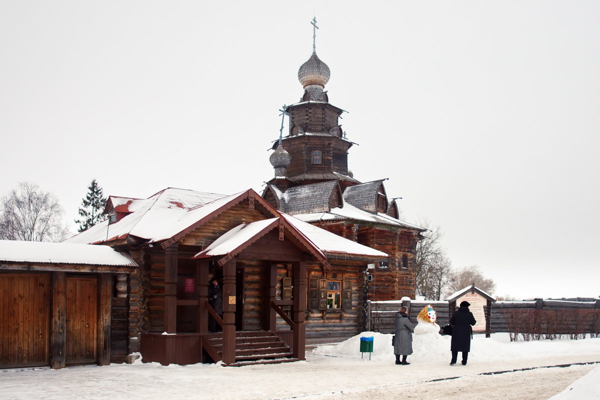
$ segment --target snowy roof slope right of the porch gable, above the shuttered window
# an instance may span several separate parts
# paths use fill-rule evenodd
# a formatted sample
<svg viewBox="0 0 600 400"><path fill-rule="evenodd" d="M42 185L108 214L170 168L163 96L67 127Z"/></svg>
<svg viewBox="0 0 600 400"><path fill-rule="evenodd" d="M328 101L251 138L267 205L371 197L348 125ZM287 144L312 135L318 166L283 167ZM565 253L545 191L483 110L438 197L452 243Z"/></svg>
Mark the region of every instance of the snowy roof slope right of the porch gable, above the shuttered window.
<svg viewBox="0 0 600 400"><path fill-rule="evenodd" d="M314 245L320 249L320 251L329 253L365 255L371 257L388 257L388 254L383 251L361 245L353 242L352 240L338 236L335 233L326 231L325 229L308 224L307 222L296 218L296 216L287 215L285 213L282 214L287 222L301 231L301 233L304 234L311 242L313 242Z"/></svg>

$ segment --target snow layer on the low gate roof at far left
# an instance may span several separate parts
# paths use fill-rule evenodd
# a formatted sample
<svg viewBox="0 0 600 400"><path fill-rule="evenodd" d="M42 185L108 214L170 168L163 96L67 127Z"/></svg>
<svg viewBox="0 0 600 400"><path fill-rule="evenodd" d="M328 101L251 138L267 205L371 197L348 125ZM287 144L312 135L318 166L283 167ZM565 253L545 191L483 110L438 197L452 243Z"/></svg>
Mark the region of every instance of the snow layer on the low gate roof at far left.
<svg viewBox="0 0 600 400"><path fill-rule="evenodd" d="M128 255L109 246L19 240L0 240L0 261L137 266Z"/></svg>

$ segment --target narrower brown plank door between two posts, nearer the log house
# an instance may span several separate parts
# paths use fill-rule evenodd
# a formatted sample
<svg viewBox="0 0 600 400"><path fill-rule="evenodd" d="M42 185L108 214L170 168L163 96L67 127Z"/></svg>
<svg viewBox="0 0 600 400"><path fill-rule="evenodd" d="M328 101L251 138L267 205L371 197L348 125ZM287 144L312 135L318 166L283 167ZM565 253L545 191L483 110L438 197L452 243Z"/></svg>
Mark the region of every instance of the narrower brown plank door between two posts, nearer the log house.
<svg viewBox="0 0 600 400"><path fill-rule="evenodd" d="M98 362L98 279L67 276L67 365Z"/></svg>

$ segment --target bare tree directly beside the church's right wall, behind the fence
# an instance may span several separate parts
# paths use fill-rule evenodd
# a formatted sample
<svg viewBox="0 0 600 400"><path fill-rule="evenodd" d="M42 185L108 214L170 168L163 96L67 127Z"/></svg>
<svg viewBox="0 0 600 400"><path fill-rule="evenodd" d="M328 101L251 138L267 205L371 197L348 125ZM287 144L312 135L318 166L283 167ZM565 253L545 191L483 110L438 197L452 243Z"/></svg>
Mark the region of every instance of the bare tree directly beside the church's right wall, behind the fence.
<svg viewBox="0 0 600 400"><path fill-rule="evenodd" d="M427 219L418 223L428 231L416 246L416 294L429 300L440 300L452 276L452 263L440 243L443 236L440 227L431 227Z"/></svg>

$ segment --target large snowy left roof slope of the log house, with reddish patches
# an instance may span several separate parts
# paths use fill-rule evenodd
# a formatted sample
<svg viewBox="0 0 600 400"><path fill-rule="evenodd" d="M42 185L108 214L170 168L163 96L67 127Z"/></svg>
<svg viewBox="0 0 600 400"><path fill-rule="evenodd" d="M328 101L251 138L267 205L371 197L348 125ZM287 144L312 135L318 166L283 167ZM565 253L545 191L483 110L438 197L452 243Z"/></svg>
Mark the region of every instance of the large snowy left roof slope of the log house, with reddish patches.
<svg viewBox="0 0 600 400"><path fill-rule="evenodd" d="M239 193L224 196L167 188L148 199L133 199L127 205L131 213L118 222L100 222L65 242L101 243L122 239L127 235L141 237L149 242L169 239L236 196L239 196Z"/></svg>

